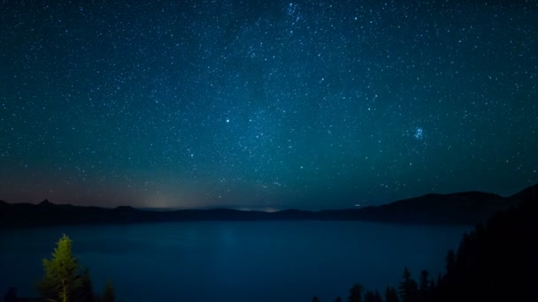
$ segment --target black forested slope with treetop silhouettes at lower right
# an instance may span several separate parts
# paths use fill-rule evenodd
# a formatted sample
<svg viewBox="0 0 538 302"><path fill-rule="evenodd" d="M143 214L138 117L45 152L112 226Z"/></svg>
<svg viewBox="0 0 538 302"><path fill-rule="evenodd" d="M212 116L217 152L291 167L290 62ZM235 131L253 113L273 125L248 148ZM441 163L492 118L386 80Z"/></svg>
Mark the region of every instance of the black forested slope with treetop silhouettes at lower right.
<svg viewBox="0 0 538 302"><path fill-rule="evenodd" d="M429 276L422 270L419 283L404 268L397 289L387 287L386 302L538 301L538 185L518 194L519 204L496 212L487 223L465 233L456 251L448 251L445 272ZM350 289L348 302L380 302L377 291L360 283ZM319 301L314 297L312 301ZM334 301L342 301L335 298Z"/></svg>

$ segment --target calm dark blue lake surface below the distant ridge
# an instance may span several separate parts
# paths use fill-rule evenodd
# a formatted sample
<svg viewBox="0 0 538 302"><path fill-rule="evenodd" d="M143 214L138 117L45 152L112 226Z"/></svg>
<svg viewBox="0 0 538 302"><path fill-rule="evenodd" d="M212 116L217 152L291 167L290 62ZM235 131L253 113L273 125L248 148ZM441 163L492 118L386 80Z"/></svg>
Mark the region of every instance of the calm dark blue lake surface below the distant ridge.
<svg viewBox="0 0 538 302"><path fill-rule="evenodd" d="M108 278L136 301L322 301L353 283L396 286L404 266L437 276L471 227L365 222L196 222L70 226L0 232L0 294L35 296L42 259L62 233L94 290Z"/></svg>

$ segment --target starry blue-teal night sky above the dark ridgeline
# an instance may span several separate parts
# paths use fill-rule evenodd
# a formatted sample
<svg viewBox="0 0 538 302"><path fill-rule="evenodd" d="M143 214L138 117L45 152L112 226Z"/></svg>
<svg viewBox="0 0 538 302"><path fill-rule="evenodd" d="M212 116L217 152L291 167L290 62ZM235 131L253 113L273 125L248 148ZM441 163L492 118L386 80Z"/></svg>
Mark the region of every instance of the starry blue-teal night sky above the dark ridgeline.
<svg viewBox="0 0 538 302"><path fill-rule="evenodd" d="M536 1L4 0L0 200L516 193L538 182L537 16Z"/></svg>

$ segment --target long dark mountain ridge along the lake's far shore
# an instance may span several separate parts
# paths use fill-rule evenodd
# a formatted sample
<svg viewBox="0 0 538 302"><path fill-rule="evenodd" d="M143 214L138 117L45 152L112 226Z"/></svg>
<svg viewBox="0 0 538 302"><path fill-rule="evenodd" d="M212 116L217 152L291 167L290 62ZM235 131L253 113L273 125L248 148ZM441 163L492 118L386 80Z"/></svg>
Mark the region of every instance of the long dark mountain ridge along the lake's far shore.
<svg viewBox="0 0 538 302"><path fill-rule="evenodd" d="M427 194L378 207L319 212L290 209L266 213L227 208L146 211L127 206L98 208L58 205L49 200L43 200L37 205L0 201L0 228L214 220L364 220L385 223L473 225L485 221L498 210L510 208L517 205L520 200L528 199L538 199L538 185L530 186L510 197L481 192Z"/></svg>

